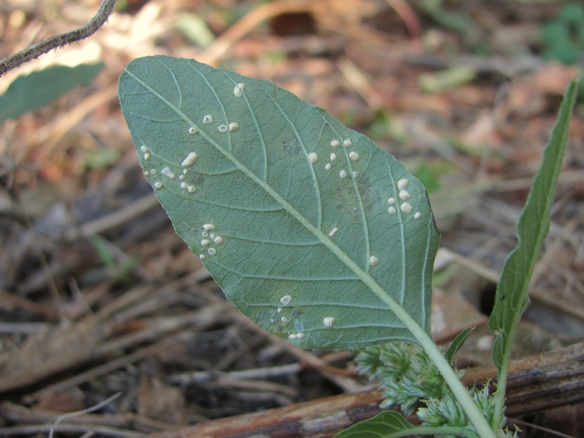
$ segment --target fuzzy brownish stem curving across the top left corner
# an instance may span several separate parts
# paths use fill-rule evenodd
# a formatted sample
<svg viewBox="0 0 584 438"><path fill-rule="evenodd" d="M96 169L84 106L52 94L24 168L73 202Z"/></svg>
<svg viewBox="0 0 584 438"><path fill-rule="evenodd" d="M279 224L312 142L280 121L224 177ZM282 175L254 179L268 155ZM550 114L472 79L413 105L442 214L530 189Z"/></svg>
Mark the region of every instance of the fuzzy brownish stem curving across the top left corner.
<svg viewBox="0 0 584 438"><path fill-rule="evenodd" d="M48 53L54 48L64 47L67 44L92 36L92 34L104 25L109 16L112 15L115 4L116 0L103 0L98 13L85 26L52 36L40 41L40 43L25 48L25 50L4 58L0 61L0 77L13 68L20 67L25 62L36 60L40 55Z"/></svg>

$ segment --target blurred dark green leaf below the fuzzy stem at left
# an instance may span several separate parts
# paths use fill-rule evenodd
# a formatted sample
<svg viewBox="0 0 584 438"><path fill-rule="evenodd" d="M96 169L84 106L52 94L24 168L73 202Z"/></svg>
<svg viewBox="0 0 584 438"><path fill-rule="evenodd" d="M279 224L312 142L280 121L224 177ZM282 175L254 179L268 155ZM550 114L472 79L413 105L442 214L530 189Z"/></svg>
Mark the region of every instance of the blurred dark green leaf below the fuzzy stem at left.
<svg viewBox="0 0 584 438"><path fill-rule="evenodd" d="M78 86L88 85L105 64L79 64L75 67L55 65L16 79L0 96L0 123L18 119L67 94Z"/></svg>

